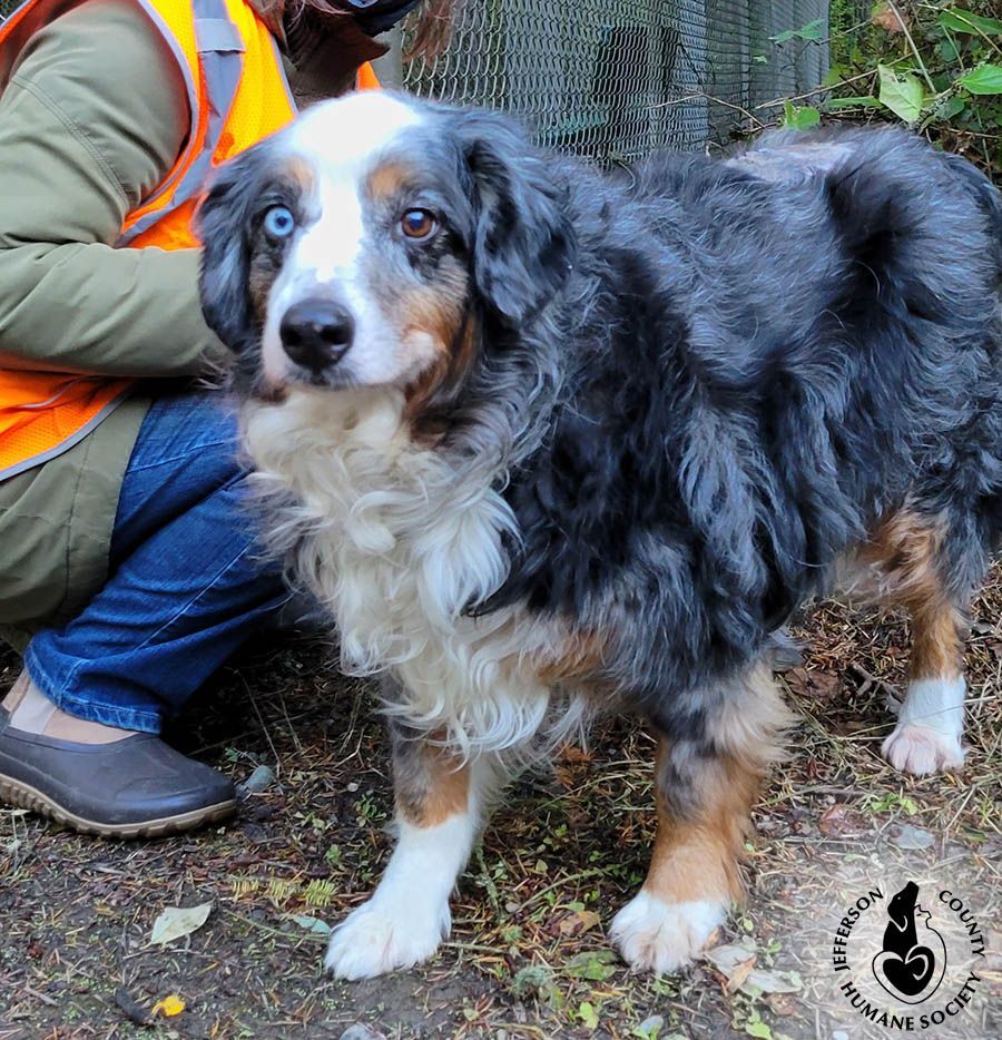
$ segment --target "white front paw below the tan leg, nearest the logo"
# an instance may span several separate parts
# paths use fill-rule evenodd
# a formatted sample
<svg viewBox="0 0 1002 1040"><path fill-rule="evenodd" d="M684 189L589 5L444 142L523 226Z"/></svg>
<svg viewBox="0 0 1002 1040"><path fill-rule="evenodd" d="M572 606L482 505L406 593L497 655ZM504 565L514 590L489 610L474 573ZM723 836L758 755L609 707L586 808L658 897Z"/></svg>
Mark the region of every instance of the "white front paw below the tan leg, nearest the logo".
<svg viewBox="0 0 1002 1040"><path fill-rule="evenodd" d="M610 935L630 968L661 974L688 964L726 916L725 902L664 903L641 890L616 915Z"/></svg>

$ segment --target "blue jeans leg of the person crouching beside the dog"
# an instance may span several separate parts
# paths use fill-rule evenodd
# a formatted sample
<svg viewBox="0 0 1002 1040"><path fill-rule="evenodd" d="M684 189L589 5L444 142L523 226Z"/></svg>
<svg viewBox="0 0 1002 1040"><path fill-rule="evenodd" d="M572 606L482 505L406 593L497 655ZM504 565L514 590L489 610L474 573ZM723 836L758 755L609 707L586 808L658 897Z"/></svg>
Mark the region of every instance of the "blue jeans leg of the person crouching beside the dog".
<svg viewBox="0 0 1002 1040"><path fill-rule="evenodd" d="M288 599L257 541L236 444L236 421L214 394L149 410L121 485L107 583L24 654L63 710L159 733Z"/></svg>

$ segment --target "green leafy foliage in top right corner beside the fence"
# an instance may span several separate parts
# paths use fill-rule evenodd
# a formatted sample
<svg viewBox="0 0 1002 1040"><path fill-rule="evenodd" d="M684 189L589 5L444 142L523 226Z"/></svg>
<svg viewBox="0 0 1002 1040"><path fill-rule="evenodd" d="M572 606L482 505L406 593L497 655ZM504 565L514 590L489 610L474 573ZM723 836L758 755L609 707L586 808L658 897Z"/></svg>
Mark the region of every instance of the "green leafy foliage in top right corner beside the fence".
<svg viewBox="0 0 1002 1040"><path fill-rule="evenodd" d="M897 119L1002 181L999 0L833 0L822 111ZM788 120L785 120L788 121Z"/></svg>

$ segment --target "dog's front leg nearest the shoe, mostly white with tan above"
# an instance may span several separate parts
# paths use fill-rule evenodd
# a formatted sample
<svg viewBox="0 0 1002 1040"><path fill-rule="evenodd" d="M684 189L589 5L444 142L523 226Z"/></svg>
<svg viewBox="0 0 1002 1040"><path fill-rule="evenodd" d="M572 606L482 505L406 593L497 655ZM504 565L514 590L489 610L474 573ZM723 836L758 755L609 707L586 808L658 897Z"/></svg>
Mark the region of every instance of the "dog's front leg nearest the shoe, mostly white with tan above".
<svg viewBox="0 0 1002 1040"><path fill-rule="evenodd" d="M326 967L367 979L431 956L449 934L449 896L501 779L493 756L463 764L393 725L397 840L375 893L335 930Z"/></svg>

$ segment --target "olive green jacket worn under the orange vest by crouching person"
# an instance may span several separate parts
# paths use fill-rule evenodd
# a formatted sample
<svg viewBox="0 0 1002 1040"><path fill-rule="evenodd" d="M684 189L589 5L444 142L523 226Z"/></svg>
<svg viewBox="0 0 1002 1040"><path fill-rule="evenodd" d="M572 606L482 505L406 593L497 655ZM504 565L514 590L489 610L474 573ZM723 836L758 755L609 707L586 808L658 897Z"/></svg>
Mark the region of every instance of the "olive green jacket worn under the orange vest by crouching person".
<svg viewBox="0 0 1002 1040"><path fill-rule="evenodd" d="M338 92L384 52L350 19L337 24L295 30L301 97ZM101 587L121 480L158 386L225 362L202 317L197 251L111 245L184 144L183 91L138 6L107 0L39 31L0 94L0 365L143 380L78 444L0 481L0 627L16 644Z"/></svg>

